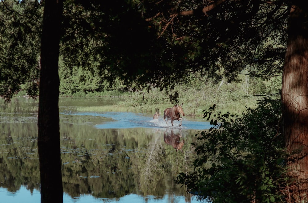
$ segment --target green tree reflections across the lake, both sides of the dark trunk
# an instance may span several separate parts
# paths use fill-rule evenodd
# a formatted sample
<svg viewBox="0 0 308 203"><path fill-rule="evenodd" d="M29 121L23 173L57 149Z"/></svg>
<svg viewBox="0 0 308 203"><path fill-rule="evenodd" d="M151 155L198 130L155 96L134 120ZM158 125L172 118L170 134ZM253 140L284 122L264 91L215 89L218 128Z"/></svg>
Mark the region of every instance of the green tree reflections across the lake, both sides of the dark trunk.
<svg viewBox="0 0 308 203"><path fill-rule="evenodd" d="M183 136L184 153L176 153L164 143L164 130L99 130L71 122L60 125L63 189L71 197L163 196L166 190L186 194L173 180L189 165L185 155L194 133ZM21 185L30 191L39 189L37 124L1 124L0 130L11 135L0 136L1 186L11 192Z"/></svg>

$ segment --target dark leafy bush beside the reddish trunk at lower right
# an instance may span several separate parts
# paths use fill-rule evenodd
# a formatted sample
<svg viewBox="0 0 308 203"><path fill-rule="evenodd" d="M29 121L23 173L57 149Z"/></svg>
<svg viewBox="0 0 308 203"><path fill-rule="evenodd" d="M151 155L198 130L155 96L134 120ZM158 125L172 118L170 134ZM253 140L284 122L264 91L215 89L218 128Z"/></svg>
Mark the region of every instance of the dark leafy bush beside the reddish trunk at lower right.
<svg viewBox="0 0 308 203"><path fill-rule="evenodd" d="M264 99L241 117L205 111L213 125L197 134L194 171L177 182L213 202L282 202L286 163L281 131L281 107Z"/></svg>

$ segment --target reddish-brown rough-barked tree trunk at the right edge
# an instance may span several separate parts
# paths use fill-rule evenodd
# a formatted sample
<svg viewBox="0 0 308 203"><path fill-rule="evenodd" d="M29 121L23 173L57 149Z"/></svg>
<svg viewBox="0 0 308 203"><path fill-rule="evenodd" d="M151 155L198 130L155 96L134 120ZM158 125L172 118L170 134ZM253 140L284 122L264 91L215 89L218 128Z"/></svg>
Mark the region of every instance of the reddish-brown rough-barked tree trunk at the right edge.
<svg viewBox="0 0 308 203"><path fill-rule="evenodd" d="M307 202L308 194L308 22L300 6L290 10L282 77L282 116L292 184L289 202Z"/></svg>

